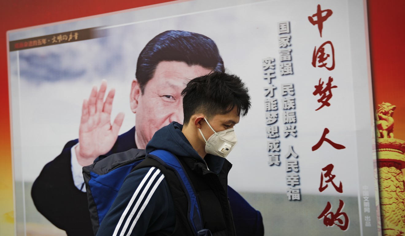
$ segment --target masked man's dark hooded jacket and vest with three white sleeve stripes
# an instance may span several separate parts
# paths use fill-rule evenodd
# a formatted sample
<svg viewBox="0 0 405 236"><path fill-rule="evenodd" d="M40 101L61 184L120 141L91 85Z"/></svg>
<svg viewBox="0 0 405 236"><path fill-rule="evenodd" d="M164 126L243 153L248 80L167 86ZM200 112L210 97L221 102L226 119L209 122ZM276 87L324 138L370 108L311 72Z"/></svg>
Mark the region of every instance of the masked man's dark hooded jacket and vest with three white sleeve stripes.
<svg viewBox="0 0 405 236"><path fill-rule="evenodd" d="M176 155L196 191L203 227L213 236L234 236L234 223L227 196L228 172L225 158L207 154L201 158L181 132L183 125L172 122L158 130L146 147ZM97 235L192 235L187 223L184 199L173 199L177 191L173 178L147 157L131 172L103 219ZM145 167L145 165L147 167ZM151 166L148 166L151 165ZM178 195L175 195L178 196ZM185 206L185 208L184 208Z"/></svg>

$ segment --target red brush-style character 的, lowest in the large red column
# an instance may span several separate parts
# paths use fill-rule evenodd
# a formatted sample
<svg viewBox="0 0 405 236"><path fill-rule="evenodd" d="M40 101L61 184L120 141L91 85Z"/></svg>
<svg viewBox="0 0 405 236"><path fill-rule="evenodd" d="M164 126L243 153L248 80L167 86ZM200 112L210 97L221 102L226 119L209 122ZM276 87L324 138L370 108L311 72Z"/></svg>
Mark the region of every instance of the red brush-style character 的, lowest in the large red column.
<svg viewBox="0 0 405 236"><path fill-rule="evenodd" d="M349 227L349 217L346 213L341 212L345 203L339 199L339 207L336 210L336 213L330 211L332 204L328 202L325 209L318 216L318 219L324 218L324 225L327 227L337 225L341 230L345 231Z"/></svg>

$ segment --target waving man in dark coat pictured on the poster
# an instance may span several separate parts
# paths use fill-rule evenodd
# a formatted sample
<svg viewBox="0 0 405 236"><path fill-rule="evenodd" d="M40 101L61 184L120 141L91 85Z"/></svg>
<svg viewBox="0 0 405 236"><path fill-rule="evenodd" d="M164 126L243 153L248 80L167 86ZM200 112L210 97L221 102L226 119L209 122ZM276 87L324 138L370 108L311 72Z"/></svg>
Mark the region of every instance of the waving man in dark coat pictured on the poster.
<svg viewBox="0 0 405 236"><path fill-rule="evenodd" d="M223 71L224 66L217 46L207 36L170 30L149 41L139 55L136 80L131 85L130 106L136 113L136 131L134 127L117 137L124 116L118 114L111 125L115 91L112 89L103 102L106 82L98 91L94 87L88 101L83 102L80 142L69 141L34 182L32 199L38 211L69 236L93 235L81 167L92 164L99 155L144 149L158 129L183 118L180 93L188 80L211 70ZM230 191L239 199L234 213L250 213L255 231L262 232L260 213L233 189ZM241 230L245 228L249 227Z"/></svg>

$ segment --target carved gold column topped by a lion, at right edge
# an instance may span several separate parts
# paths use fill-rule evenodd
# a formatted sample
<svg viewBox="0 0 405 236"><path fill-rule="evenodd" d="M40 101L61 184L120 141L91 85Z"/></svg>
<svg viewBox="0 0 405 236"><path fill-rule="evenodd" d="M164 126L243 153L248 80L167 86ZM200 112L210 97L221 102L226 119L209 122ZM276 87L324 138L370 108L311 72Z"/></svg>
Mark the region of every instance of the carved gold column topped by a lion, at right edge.
<svg viewBox="0 0 405 236"><path fill-rule="evenodd" d="M394 110L388 102L378 105L377 167L384 236L405 236L405 141L394 138Z"/></svg>

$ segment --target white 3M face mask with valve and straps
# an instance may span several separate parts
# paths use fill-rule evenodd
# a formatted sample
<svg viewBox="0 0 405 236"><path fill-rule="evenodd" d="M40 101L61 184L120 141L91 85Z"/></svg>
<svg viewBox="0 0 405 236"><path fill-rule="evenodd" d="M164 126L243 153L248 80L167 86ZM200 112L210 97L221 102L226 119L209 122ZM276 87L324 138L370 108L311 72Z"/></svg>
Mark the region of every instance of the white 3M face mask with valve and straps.
<svg viewBox="0 0 405 236"><path fill-rule="evenodd" d="M207 121L207 119L205 119L205 121ZM234 129L229 128L221 132L215 132L208 121L207 124L214 132L208 140L205 139L203 132L198 129L205 141L205 152L220 157L226 157L238 142Z"/></svg>

